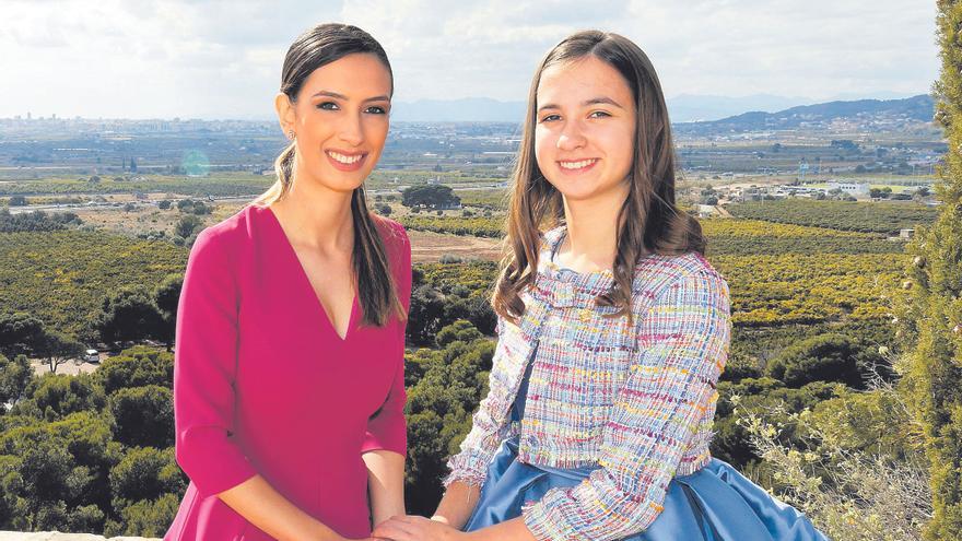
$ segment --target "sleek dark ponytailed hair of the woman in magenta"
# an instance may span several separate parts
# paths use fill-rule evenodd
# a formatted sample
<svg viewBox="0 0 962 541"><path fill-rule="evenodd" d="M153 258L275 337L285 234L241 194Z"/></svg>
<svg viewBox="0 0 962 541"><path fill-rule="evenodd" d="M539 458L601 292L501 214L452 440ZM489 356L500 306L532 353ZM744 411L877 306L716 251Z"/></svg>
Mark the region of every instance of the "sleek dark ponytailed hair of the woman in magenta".
<svg viewBox="0 0 962 541"><path fill-rule="evenodd" d="M284 57L281 92L292 103L296 103L304 81L314 70L354 54L377 57L390 75L394 93L394 74L380 44L356 26L335 23L317 25L294 39ZM283 199L291 190L295 149L296 144L291 142L278 156L274 162L278 180L254 201L255 204L270 204ZM364 311L364 325L384 326L390 313L404 318L384 240L378 234L378 226L385 232L391 231L391 227L384 223L384 219L367 210L363 185L355 188L351 196L351 215L354 221L354 251L351 259Z"/></svg>

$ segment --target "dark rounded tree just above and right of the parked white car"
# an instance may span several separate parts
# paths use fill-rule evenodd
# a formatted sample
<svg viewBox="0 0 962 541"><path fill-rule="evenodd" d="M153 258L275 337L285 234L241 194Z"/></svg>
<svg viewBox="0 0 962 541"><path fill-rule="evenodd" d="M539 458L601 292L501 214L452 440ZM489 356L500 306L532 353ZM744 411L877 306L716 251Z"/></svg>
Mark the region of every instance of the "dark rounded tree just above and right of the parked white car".
<svg viewBox="0 0 962 541"><path fill-rule="evenodd" d="M143 286L122 289L104 298L94 328L104 342L163 340L163 317Z"/></svg>

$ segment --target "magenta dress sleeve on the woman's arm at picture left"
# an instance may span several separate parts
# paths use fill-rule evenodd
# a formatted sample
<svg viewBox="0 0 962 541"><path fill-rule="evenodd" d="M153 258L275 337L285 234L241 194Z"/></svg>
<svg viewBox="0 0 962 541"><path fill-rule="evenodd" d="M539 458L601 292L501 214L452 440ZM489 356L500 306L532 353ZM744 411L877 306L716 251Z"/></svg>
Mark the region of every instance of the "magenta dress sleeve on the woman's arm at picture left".
<svg viewBox="0 0 962 541"><path fill-rule="evenodd" d="M175 452L203 496L257 473L232 438L238 287L224 242L211 230L197 237L177 309Z"/></svg>

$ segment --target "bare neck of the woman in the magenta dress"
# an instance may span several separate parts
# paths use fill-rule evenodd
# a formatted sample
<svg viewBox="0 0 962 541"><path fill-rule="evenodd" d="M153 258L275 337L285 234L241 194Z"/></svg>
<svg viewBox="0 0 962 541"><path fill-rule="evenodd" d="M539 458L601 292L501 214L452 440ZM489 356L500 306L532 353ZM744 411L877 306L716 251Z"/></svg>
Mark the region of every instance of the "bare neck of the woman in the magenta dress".
<svg viewBox="0 0 962 541"><path fill-rule="evenodd" d="M350 252L354 246L351 191L335 191L294 168L291 189L271 204L286 219L291 242L327 254Z"/></svg>

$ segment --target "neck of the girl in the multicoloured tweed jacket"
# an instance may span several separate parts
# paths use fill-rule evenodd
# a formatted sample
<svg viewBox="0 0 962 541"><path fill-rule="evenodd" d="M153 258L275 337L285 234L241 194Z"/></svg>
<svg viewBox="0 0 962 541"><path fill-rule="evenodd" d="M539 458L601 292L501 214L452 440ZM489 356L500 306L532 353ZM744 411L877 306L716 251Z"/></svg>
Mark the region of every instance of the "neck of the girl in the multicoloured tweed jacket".
<svg viewBox="0 0 962 541"><path fill-rule="evenodd" d="M579 272L611 270L618 251L618 213L627 190L617 197L564 200L567 233L559 249L564 267Z"/></svg>

